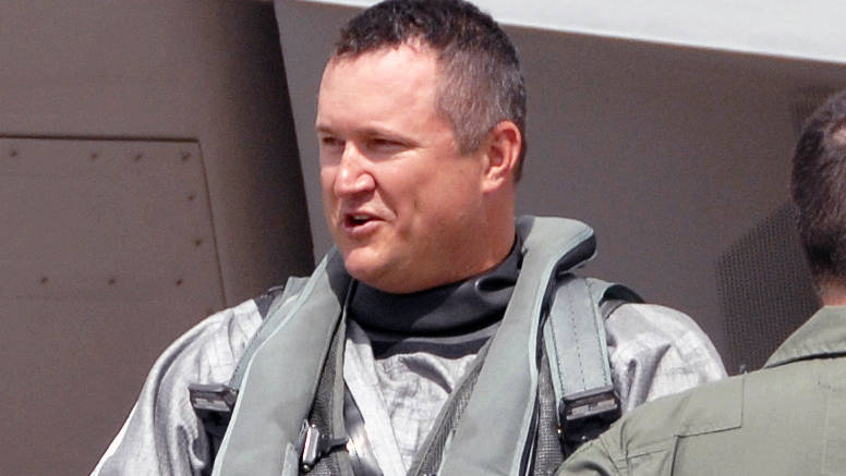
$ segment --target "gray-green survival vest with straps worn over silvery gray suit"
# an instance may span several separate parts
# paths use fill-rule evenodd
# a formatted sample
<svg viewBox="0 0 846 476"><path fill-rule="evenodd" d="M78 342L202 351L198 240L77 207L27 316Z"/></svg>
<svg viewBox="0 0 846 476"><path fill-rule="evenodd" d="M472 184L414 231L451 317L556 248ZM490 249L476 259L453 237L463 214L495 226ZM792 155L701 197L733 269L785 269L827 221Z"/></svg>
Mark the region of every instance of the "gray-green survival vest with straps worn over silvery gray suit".
<svg viewBox="0 0 846 476"><path fill-rule="evenodd" d="M604 319L640 297L573 274L595 254L584 223L520 217L517 232L522 266L501 324L445 403L410 475L553 474L620 415ZM310 278L265 298L266 317L228 386L192 386L216 454L213 475L380 474L355 449L361 422L345 422L350 284L333 248ZM508 430L492 430L494 419Z"/></svg>

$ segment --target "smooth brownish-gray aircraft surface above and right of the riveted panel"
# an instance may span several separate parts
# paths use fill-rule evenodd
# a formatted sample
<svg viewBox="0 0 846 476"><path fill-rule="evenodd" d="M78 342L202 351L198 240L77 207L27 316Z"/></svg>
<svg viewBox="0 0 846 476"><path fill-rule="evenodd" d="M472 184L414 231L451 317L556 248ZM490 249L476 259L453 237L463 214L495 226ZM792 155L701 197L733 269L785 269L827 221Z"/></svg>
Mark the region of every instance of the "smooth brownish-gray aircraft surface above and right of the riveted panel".
<svg viewBox="0 0 846 476"><path fill-rule="evenodd" d="M227 301L310 268L269 4L32 0L0 9L0 134L196 139Z"/></svg>

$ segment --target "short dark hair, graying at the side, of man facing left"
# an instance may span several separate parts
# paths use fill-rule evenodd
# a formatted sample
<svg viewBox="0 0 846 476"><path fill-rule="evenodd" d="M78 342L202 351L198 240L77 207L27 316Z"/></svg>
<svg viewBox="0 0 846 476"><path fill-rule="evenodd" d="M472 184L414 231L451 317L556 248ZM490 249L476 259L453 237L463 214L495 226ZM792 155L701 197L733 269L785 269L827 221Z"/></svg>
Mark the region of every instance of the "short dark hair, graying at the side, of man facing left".
<svg viewBox="0 0 846 476"><path fill-rule="evenodd" d="M456 134L459 151L476 150L499 121L517 124L525 155L525 86L517 50L491 15L463 0L387 0L350 20L334 59L400 45L437 54L437 108Z"/></svg>

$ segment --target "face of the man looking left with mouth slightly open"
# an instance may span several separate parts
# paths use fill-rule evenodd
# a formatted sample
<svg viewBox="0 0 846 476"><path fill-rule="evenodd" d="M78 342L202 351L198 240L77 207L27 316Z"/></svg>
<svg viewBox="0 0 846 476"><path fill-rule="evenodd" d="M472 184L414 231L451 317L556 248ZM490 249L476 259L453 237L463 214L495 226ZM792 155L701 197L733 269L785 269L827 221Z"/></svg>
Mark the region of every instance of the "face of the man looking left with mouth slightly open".
<svg viewBox="0 0 846 476"><path fill-rule="evenodd" d="M324 211L354 278L392 293L458 281L479 263L480 152L437 113L436 56L385 48L327 65L317 107ZM481 148L480 148L481 149ZM478 269L481 268L481 269Z"/></svg>

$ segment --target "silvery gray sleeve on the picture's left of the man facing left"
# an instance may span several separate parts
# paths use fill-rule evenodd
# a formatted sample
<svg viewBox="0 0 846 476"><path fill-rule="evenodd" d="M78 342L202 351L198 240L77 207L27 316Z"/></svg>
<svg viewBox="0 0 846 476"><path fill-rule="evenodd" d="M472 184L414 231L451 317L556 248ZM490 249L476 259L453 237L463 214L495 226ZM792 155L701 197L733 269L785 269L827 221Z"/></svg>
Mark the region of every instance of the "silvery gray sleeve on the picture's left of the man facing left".
<svg viewBox="0 0 846 476"><path fill-rule="evenodd" d="M226 383L262 322L254 301L207 317L156 361L135 406L92 475L198 475L208 443L189 383Z"/></svg>

